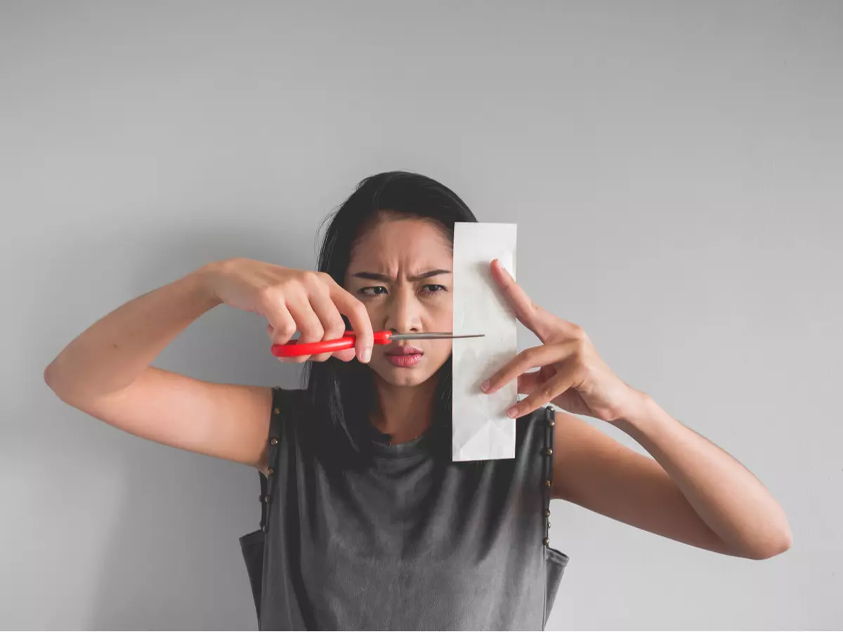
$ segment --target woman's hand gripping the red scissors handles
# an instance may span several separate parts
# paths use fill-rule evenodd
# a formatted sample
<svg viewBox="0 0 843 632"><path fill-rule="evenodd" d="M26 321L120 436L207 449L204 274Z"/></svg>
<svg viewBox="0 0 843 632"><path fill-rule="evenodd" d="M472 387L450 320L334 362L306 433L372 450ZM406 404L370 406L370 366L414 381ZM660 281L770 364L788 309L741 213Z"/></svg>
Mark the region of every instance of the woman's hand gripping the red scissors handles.
<svg viewBox="0 0 843 632"><path fill-rule="evenodd" d="M366 307L330 275L239 258L214 262L203 271L219 301L266 317L273 345L286 344L296 331L301 332L302 342L336 340L346 331L341 314L348 317L357 338L354 349L282 362L324 362L330 356L343 362L357 356L368 362L372 357L372 323Z"/></svg>

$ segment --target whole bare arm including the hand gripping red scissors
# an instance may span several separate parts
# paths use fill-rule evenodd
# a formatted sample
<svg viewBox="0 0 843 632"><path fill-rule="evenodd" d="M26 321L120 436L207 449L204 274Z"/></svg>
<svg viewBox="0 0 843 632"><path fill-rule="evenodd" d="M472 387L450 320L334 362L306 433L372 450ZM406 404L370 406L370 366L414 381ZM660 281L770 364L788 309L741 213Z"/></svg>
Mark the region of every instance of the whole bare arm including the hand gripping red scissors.
<svg viewBox="0 0 843 632"><path fill-rule="evenodd" d="M220 303L264 315L274 344L297 330L307 342L341 337L345 313L357 348L333 355L368 362L366 308L330 276L235 259L203 266L99 319L46 367L45 381L67 404L138 437L263 469L270 388L209 383L150 366Z"/></svg>

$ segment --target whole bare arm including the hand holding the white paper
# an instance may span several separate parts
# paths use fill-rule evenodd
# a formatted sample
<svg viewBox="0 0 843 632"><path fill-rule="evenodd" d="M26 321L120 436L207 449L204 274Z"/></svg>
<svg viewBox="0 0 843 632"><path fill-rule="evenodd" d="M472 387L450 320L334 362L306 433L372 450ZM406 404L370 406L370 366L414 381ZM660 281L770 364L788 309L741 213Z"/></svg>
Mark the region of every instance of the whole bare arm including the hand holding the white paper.
<svg viewBox="0 0 843 632"><path fill-rule="evenodd" d="M719 553L760 560L790 547L784 511L748 469L621 381L582 329L532 303L497 262L491 271L518 319L543 344L518 354L484 384L486 392L518 378L518 392L528 397L511 416L556 404L617 426L653 457L558 414L555 497Z"/></svg>

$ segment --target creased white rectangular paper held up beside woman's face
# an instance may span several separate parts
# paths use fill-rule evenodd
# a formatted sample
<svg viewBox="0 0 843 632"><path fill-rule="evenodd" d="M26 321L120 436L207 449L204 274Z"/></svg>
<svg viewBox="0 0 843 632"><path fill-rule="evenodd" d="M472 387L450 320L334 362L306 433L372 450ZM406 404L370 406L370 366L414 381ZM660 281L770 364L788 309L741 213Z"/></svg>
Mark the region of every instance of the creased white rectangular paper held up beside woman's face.
<svg viewBox="0 0 843 632"><path fill-rule="evenodd" d="M487 395L481 383L513 359L517 348L512 308L491 278L491 260L515 276L515 224L454 224L454 461L515 457L515 420L507 408L518 399L513 383Z"/></svg>

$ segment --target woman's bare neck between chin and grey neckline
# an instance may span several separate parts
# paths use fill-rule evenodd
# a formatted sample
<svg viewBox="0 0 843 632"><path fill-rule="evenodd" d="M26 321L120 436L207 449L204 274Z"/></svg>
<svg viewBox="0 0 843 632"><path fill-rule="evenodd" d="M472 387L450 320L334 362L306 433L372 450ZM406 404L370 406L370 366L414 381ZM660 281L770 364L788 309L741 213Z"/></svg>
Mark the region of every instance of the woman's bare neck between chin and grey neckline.
<svg viewBox="0 0 843 632"><path fill-rule="evenodd" d="M392 443L420 437L431 425L437 381L438 376L433 376L418 386L395 386L376 376L373 426L390 435Z"/></svg>

